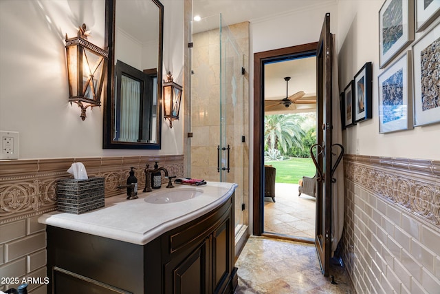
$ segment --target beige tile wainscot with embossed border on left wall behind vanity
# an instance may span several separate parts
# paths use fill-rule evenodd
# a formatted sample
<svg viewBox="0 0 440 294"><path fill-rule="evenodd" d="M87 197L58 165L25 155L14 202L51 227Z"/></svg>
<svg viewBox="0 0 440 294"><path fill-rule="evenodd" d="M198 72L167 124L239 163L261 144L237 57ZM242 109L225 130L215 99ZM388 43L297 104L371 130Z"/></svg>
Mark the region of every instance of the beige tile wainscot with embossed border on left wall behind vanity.
<svg viewBox="0 0 440 294"><path fill-rule="evenodd" d="M17 288L30 277L30 294L47 293L45 225L37 220L56 210L56 180L69 178L66 171L73 162L83 162L89 177L104 177L109 197L124 193L118 185L125 184L130 167L142 191L146 164L153 167L155 161L170 175L184 175L182 155L0 161L0 290Z"/></svg>

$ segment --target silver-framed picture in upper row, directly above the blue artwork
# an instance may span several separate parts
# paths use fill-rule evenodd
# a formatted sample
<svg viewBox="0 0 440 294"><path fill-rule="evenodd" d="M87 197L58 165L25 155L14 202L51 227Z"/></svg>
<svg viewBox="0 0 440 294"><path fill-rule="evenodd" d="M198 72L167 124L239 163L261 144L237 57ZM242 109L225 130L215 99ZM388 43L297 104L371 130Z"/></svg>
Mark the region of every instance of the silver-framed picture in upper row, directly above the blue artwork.
<svg viewBox="0 0 440 294"><path fill-rule="evenodd" d="M379 10L380 68L390 63L412 40L414 0L386 0Z"/></svg>

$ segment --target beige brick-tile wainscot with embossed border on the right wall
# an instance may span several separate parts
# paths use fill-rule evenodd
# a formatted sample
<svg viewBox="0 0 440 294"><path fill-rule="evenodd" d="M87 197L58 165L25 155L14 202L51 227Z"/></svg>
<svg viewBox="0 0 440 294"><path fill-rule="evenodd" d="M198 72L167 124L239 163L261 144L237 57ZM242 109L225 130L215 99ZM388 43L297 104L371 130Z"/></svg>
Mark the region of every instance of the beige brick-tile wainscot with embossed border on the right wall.
<svg viewBox="0 0 440 294"><path fill-rule="evenodd" d="M440 162L344 157L343 257L357 293L440 293Z"/></svg>

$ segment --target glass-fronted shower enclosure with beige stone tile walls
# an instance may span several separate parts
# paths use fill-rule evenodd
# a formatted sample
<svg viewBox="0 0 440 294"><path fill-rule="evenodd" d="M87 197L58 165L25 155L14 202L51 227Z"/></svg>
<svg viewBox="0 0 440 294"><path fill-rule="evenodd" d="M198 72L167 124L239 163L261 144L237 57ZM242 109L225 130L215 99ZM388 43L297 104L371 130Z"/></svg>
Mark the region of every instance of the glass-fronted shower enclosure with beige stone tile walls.
<svg viewBox="0 0 440 294"><path fill-rule="evenodd" d="M192 178L239 185L235 192L237 244L248 231L249 99L248 56L232 29L243 31L225 24L221 14L190 24L192 138L188 166Z"/></svg>

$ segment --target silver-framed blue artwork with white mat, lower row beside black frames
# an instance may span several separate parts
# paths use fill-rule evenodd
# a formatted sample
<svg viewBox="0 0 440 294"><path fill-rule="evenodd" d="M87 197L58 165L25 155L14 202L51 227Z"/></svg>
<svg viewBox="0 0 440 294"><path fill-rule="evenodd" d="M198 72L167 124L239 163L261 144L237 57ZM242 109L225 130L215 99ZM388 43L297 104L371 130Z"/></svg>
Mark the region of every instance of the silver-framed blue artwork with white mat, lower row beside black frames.
<svg viewBox="0 0 440 294"><path fill-rule="evenodd" d="M412 129L411 52L406 52L378 77L379 132Z"/></svg>

